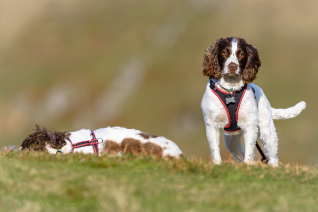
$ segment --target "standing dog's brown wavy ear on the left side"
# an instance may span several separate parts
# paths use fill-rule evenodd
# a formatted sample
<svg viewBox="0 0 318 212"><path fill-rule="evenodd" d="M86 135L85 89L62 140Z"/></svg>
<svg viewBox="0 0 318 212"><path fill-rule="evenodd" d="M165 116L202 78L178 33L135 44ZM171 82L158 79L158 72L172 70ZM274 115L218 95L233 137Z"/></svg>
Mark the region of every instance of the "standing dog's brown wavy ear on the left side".
<svg viewBox="0 0 318 212"><path fill-rule="evenodd" d="M221 40L211 44L204 54L204 61L202 64L202 73L209 78L220 79L221 67L219 64L219 49L221 47Z"/></svg>

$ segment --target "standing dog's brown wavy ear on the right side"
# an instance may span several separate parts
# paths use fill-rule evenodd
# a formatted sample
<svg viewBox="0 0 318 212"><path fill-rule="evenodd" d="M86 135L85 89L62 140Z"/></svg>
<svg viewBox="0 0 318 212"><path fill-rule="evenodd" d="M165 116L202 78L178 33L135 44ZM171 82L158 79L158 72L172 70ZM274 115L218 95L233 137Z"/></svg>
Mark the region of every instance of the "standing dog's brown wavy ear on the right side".
<svg viewBox="0 0 318 212"><path fill-rule="evenodd" d="M247 44L246 50L248 53L248 59L243 70L243 83L249 84L256 79L258 68L261 66L261 61L255 46Z"/></svg>

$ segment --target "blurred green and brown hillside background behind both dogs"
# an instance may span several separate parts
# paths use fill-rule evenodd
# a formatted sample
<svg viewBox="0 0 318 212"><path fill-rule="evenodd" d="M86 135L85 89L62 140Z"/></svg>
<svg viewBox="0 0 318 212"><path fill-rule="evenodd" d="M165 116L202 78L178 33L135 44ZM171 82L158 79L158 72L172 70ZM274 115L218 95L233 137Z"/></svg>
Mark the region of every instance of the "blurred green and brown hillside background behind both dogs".
<svg viewBox="0 0 318 212"><path fill-rule="evenodd" d="M280 161L317 165L317 11L315 0L0 0L0 147L36 123L122 126L209 158L203 54L239 36L259 51L254 83L273 107L307 103L275 121Z"/></svg>

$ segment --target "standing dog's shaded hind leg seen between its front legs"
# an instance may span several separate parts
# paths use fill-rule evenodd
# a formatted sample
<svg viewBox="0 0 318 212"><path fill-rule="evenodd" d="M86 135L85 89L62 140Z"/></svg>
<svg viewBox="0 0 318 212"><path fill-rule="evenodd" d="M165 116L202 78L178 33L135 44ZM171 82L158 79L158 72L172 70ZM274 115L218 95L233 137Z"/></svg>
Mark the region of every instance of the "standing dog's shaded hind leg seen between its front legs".
<svg viewBox="0 0 318 212"><path fill-rule="evenodd" d="M244 160L244 149L241 144L241 133L238 135L228 135L224 133L223 139L227 151L233 155L235 163L241 163Z"/></svg>

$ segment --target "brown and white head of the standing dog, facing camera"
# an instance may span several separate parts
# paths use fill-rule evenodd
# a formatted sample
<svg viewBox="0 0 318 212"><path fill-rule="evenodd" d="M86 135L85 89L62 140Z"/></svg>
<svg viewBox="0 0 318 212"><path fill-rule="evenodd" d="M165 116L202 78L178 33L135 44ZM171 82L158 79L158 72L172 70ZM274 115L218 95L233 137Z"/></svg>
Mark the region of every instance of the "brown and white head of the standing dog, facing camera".
<svg viewBox="0 0 318 212"><path fill-rule="evenodd" d="M251 83L261 66L255 46L241 38L220 38L204 54L202 72L205 76L220 79L222 76L242 77Z"/></svg>

